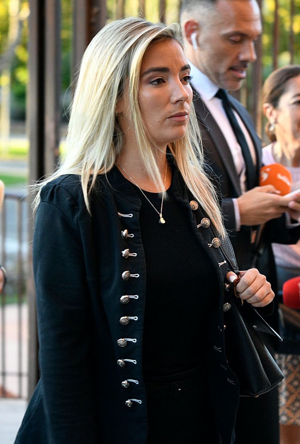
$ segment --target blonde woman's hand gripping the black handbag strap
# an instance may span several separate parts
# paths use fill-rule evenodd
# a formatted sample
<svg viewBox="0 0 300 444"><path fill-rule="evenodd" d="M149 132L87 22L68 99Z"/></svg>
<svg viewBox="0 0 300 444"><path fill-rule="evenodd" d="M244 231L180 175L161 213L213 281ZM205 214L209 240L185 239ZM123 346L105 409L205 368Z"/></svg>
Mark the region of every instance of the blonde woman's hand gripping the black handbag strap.
<svg viewBox="0 0 300 444"><path fill-rule="evenodd" d="M237 275L233 271L229 271L226 278L229 282L234 282ZM253 307L264 307L272 302L275 294L272 291L271 284L256 268L240 271L240 278L236 291L241 299L253 305Z"/></svg>

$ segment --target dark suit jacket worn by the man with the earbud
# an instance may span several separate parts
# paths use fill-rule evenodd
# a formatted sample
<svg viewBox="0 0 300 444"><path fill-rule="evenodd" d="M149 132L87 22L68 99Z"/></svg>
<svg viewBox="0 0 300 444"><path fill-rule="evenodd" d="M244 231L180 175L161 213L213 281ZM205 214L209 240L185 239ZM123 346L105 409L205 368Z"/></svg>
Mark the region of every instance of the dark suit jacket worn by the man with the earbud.
<svg viewBox="0 0 300 444"><path fill-rule="evenodd" d="M259 172L261 168L261 140L256 134L253 121L245 108L229 95L233 108L237 111L245 127L249 131L257 156L256 176L259 185ZM229 237L236 254L237 263L240 270L247 270L252 266L253 245L251 243L251 227L241 226L240 231L236 231L234 216L233 198L241 195L241 186L237 171L233 162L231 151L225 137L213 118L213 115L205 109L204 103L199 95L194 91L194 105L197 119L201 129L204 154L207 163L212 167L215 174L220 179L222 192L222 210L224 213L225 227L229 232ZM268 222L264 229L263 242L264 251L257 262L257 268L265 274L276 292L276 268L272 254L271 242L292 244L297 242L300 236L299 227L286 229L285 215L281 218ZM276 328L276 325L274 325Z"/></svg>

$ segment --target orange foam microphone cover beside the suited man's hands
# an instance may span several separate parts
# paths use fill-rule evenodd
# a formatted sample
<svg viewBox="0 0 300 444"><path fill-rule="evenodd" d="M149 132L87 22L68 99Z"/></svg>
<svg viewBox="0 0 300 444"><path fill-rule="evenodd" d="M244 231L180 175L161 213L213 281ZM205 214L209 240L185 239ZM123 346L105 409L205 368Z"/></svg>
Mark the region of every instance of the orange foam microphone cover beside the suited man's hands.
<svg viewBox="0 0 300 444"><path fill-rule="evenodd" d="M292 189L292 174L280 163L272 163L261 168L260 186L273 185L280 191L281 196L290 193Z"/></svg>

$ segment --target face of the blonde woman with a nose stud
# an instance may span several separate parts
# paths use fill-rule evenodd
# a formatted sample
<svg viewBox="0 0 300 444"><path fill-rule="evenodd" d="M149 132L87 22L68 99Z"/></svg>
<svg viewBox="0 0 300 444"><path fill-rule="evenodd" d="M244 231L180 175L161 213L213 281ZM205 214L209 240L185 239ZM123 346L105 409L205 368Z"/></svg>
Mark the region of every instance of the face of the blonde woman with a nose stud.
<svg viewBox="0 0 300 444"><path fill-rule="evenodd" d="M173 39L152 44L142 59L139 105L147 131L158 147L166 148L186 134L193 97L189 71L182 47ZM128 107L124 96L117 109L125 140L132 140Z"/></svg>

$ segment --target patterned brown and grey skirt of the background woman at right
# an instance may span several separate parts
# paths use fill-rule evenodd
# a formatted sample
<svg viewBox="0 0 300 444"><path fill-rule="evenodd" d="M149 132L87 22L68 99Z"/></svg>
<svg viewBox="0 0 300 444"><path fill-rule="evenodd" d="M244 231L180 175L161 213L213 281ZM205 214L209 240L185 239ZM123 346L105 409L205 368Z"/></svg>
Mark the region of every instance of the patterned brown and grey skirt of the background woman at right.
<svg viewBox="0 0 300 444"><path fill-rule="evenodd" d="M300 356L277 354L284 380L279 385L280 424L300 425Z"/></svg>

